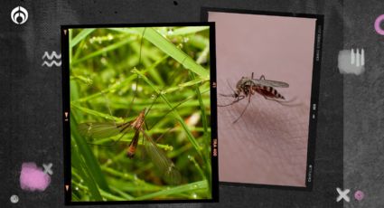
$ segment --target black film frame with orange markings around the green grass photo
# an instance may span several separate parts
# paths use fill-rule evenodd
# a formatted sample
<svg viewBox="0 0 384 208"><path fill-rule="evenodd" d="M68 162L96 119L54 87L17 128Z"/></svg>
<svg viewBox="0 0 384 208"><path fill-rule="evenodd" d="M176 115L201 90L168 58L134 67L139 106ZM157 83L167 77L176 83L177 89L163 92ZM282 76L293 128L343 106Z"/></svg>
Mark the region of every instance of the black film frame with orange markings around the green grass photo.
<svg viewBox="0 0 384 208"><path fill-rule="evenodd" d="M82 78L81 78L81 76L78 76L75 78L75 77L71 76L72 74L70 74L70 55L71 55L70 50L69 50L69 48L70 48L70 30L71 29L95 29L95 28L96 29L117 28L117 30L118 29L124 29L124 28L130 28L130 29L131 28L133 28L133 29L144 28L143 33L142 33L142 39L144 39L145 30L147 28L183 27L183 26L195 26L196 28L209 27L207 29L207 31L209 32L209 42L210 43L209 43L209 48L207 50L209 52L208 54L210 57L210 61L206 64L209 65L210 71L206 71L206 74L208 74L208 76L205 77L205 78L208 78L209 80L202 80L201 79L202 80L201 85L203 83L205 83L205 85L207 85L207 82L208 82L207 88L210 91L210 96L209 96L209 98L206 98L206 100L210 100L210 102L211 102L211 116L206 117L206 118L211 118L210 120L208 120L210 128L211 128L211 130L210 130L211 136L210 136L210 143L209 143L210 145L209 146L207 145L206 147L211 147L211 151L210 151L209 156L206 156L206 157L201 156L202 159L201 158L193 158L193 157L190 158L190 156L188 156L188 158L190 159L189 161L191 162L191 165L189 165L189 166L198 165L199 163L201 163L201 161L204 161L204 159L205 160L208 159L211 161L211 167L208 167L208 169L207 169L208 172L211 172L211 183L209 183L209 181L210 181L209 178L205 180L207 183L207 186L209 186L211 184L211 187L208 187L208 189L207 189L207 190L211 190L211 193L210 193L211 197L201 198L201 199L199 199L199 198L191 199L191 197L188 197L186 199L180 199L177 197L173 198L171 196L169 199L156 199L156 197L154 197L154 199L151 199L151 200L148 200L148 199L136 200L136 199L134 199L134 200L116 200L116 201L114 201L114 200L104 201L105 197L103 197L103 200L97 200L97 201L94 201L94 200L81 201L81 202L73 201L72 193L76 187L74 187L72 185L72 171L71 171L72 161L79 159L79 158L74 158L72 156L72 151L74 150L74 148L78 148L78 146L80 146L81 144L76 143L76 147L71 146L71 144L72 144L71 137L74 137L71 134L73 132L79 131L80 128L79 128L79 126L74 126L75 125L74 122L76 122L76 121L75 121L74 116L73 116L73 114L74 114L73 106L71 106L71 97L73 97L73 95L71 95L71 93L70 93L70 80L73 80L73 79L80 79L81 80ZM196 31L199 31L199 29L197 29ZM160 36L157 36L157 37L160 37ZM107 39L108 39L108 37L107 37ZM171 42L168 41L168 43L171 43ZM84 45L86 45L86 44L87 43L84 43ZM141 62L141 55L142 55L141 44L143 44L143 43L142 42L140 43L140 49L139 49L140 50L140 53L139 53L140 56L139 56L137 65L142 64L142 62ZM84 45L83 45L83 47L84 47ZM181 60L174 61L174 63L173 63L174 65L181 65L181 67L183 67L183 65L186 64L188 59L190 59L190 56L187 53L185 53L185 52L183 52L183 53L185 54L185 57L182 58ZM63 141L63 144L64 144L64 146L63 146L64 147L64 184L65 184L64 193L65 193L65 204L66 205L125 204L125 203L211 203L211 202L218 202L219 201L218 139L217 139L217 111L216 111L217 109L216 109L216 84L215 84L216 83L215 27L214 27L213 23L61 25L61 54L62 54L62 94L63 94L62 119L63 119L63 136L64 136L63 137L63 139L64 139L64 141ZM171 55L167 54L167 55L170 59L172 59L172 58L174 59L172 54ZM179 57L179 59L180 59L180 57ZM177 62L177 61L181 61L181 62ZM192 62L192 64L195 63L194 60L192 60L192 61L190 60L190 62ZM142 69L139 69L139 70L142 70ZM191 75L191 76L193 77L194 75ZM89 75L89 77L90 77L90 75ZM81 81L84 81L84 80L81 80ZM85 81L87 82L87 79ZM196 85L196 84L192 84L191 86L194 86L194 85ZM188 88L191 86L178 85L180 90L183 90L183 88ZM201 96L202 92L200 92L200 90L199 90L199 85L196 85L196 86L197 87L195 90L199 91L196 93ZM138 87L138 85L136 82L136 89L137 89L137 87ZM102 89L101 92L98 91L96 93L103 94L101 96L104 96L104 94L106 93L106 90ZM135 90L135 93L136 93L136 90ZM135 96L136 96L136 94L134 95L134 97ZM194 99L196 99L195 101L197 101L197 102L202 100L201 98L197 98L197 97ZM148 99L148 100L151 100L151 99ZM154 103L152 105L154 105ZM151 105L151 108L152 108L152 105ZM171 111L173 111L173 109L178 108L179 106L181 106L181 105L179 104L177 106L173 106ZM109 109L109 107L108 107L108 109ZM110 109L109 109L109 111L110 111ZM168 114L168 113L166 113L166 114ZM202 115L204 115L204 114L202 114ZM145 116L146 116L146 114L145 114ZM130 124L132 122L133 121L131 120ZM201 121L199 121L199 122L201 122ZM207 120L205 120L204 122L207 122ZM71 126L71 124L72 124L72 126ZM79 128L79 129L74 131L75 128ZM92 127L89 126L89 129L90 128L92 128ZM207 130L207 129L205 129L205 130ZM137 131L139 131L139 130L137 130ZM171 132L171 131L172 130L167 130L167 132ZM123 131L120 129L120 132L123 132ZM79 133L77 133L77 134L79 134ZM83 136L81 136L81 137L83 137ZM191 136L189 136L189 137L191 137ZM141 140L141 138L140 138L140 140ZM143 144L145 144L144 142L146 141L146 140L145 141L144 140L145 140L145 138L143 136ZM83 141L83 142L85 142L85 141ZM146 142L148 142L148 141L146 141ZM138 143L140 143L140 141L138 141ZM90 146L87 143L83 143L82 145L84 145L84 144ZM128 144L128 143L126 143L126 144ZM192 146L193 145L199 146L199 144L192 144ZM81 151L81 150L84 150L84 149L80 149L80 150L76 150L76 151ZM84 156L81 155L81 157L84 157ZM95 160L95 159L93 159L93 160ZM177 167L177 165L176 165L176 167ZM168 169L165 171L169 171L170 168L173 168L173 166L168 166ZM205 173L204 171L206 171L206 170L202 169L200 171L201 171L201 174L203 174L203 173ZM91 180L91 181L97 180L95 178L96 177L94 175L89 176L89 180ZM138 181L138 182L140 184L140 181ZM95 184L97 184L97 183L95 183ZM196 187L196 190L198 190L200 184L191 184L191 185L194 185L193 187ZM97 188L98 188L99 193L102 192L102 191L100 191L101 190L100 187L97 186ZM178 188L179 190L182 190L182 193L183 193L183 189L187 189L188 187L186 187L185 184L181 184L181 185L173 185L173 186L171 186L171 189L172 188L174 188L174 189ZM163 189L161 191L166 192L169 190ZM161 191L159 191L159 192L161 192ZM121 195L124 195L124 193ZM197 195L197 197L199 197L198 191L196 192L196 195ZM100 196L101 196L101 194L100 194Z"/></svg>

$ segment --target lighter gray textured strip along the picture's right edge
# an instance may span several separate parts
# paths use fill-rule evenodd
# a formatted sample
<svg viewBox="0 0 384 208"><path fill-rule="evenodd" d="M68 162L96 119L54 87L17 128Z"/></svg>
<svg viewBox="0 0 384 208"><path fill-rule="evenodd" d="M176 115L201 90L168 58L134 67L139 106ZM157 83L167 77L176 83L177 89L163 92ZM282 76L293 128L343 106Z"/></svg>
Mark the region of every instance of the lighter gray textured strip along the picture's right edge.
<svg viewBox="0 0 384 208"><path fill-rule="evenodd" d="M343 46L364 48L365 71L343 76L344 187L365 198L344 207L384 207L384 36L373 27L384 2L353 2L344 1Z"/></svg>

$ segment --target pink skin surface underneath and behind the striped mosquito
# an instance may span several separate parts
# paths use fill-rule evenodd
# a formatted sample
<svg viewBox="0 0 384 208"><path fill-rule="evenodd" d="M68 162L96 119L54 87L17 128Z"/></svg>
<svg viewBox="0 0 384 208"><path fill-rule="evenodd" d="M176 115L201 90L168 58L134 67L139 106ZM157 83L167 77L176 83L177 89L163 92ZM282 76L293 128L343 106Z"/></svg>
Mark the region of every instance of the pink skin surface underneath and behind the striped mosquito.
<svg viewBox="0 0 384 208"><path fill-rule="evenodd" d="M305 186L315 20L210 12L216 23L218 104L241 77L284 81L284 106L261 95L218 107L220 181ZM229 87L230 86L230 87Z"/></svg>

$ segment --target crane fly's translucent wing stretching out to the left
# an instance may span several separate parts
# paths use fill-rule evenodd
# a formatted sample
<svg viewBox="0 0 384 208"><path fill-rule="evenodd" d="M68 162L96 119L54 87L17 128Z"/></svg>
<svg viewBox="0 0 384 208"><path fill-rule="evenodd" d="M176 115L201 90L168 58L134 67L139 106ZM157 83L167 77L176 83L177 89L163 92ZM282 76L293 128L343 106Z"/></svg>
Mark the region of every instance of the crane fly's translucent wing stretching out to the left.
<svg viewBox="0 0 384 208"><path fill-rule="evenodd" d="M121 133L121 129L113 122L86 122L78 126L83 137L106 138Z"/></svg>

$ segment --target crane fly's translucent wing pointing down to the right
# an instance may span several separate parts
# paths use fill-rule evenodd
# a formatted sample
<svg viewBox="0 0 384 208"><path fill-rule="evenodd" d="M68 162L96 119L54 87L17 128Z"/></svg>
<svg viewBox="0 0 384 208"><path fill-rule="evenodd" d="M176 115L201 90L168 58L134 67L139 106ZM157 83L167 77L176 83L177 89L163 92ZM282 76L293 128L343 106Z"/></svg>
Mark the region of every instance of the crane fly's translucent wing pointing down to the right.
<svg viewBox="0 0 384 208"><path fill-rule="evenodd" d="M154 165L162 173L165 182L169 184L180 184L182 175L180 175L180 172L176 169L173 162L156 146L151 137L144 131L142 131L142 133L145 137L145 151L148 156L151 157Z"/></svg>

